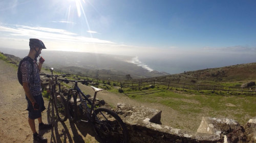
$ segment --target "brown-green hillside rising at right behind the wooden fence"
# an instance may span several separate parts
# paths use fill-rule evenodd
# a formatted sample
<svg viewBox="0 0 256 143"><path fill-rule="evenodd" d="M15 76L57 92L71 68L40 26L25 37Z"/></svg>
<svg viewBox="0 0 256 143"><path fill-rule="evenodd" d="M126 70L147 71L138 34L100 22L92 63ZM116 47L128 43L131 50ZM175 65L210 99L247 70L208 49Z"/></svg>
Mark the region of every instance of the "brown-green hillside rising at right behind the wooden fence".
<svg viewBox="0 0 256 143"><path fill-rule="evenodd" d="M180 74L172 74L140 80L148 79L185 83L232 82L241 80L250 81L256 79L256 63L239 64L197 71L184 71L184 73Z"/></svg>

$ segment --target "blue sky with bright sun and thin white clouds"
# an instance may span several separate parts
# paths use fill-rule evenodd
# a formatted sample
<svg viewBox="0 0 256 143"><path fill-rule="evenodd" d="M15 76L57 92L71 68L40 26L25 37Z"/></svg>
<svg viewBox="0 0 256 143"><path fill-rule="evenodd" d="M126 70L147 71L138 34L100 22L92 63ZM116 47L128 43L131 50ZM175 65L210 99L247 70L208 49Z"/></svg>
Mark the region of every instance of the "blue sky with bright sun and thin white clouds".
<svg viewBox="0 0 256 143"><path fill-rule="evenodd" d="M28 49L38 38L47 50L132 55L155 65L235 65L256 62L255 15L250 0L2 0L0 47Z"/></svg>

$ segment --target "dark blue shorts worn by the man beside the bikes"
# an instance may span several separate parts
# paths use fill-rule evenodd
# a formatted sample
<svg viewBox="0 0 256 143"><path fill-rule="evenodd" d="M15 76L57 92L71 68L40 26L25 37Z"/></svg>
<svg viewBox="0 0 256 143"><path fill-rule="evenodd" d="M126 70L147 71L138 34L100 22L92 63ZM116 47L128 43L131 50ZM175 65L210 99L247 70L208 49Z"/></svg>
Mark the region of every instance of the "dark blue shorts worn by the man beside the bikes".
<svg viewBox="0 0 256 143"><path fill-rule="evenodd" d="M41 112L46 109L44 99L42 99L42 95L34 96L34 99L35 99L36 103L39 105L38 110L34 110L33 105L32 105L32 103L30 102L30 100L28 99L27 96L26 96L26 99L28 101L27 110L29 111L29 118L30 119L40 118L41 117Z"/></svg>

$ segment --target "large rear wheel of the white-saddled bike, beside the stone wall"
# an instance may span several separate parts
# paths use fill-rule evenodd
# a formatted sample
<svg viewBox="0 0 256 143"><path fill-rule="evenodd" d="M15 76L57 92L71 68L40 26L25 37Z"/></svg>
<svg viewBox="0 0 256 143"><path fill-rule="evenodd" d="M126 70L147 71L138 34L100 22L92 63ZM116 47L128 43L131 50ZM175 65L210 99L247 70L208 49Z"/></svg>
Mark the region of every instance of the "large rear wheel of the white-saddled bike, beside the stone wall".
<svg viewBox="0 0 256 143"><path fill-rule="evenodd" d="M93 113L94 129L102 142L127 142L127 129L121 118L112 110L99 107Z"/></svg>

